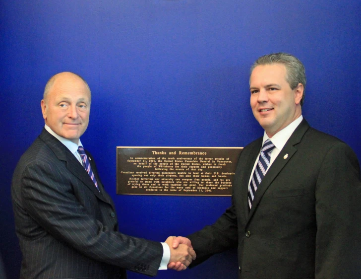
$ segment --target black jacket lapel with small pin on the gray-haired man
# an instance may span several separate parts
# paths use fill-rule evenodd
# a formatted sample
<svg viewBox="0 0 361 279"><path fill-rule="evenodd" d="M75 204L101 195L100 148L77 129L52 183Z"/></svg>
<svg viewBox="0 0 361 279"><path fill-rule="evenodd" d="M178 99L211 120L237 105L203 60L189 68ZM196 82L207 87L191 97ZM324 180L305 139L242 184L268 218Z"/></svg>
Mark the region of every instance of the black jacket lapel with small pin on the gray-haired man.
<svg viewBox="0 0 361 279"><path fill-rule="evenodd" d="M291 160L293 155L297 152L296 145L301 142L301 139L304 135L304 133L308 130L309 125L305 119L302 120L300 125L296 128L294 133L291 135L290 139L287 140L285 146L282 148L280 153L278 154L275 161L270 166L269 170L267 171L266 175L262 179L256 194L254 195L254 200L252 202L252 208L249 210L247 221L250 220L255 210L257 210L258 204L260 200L262 199L262 196L268 189L268 187L271 185L273 180L277 177L277 175L280 173L280 171L286 166L286 164ZM261 146L259 146L258 151L260 150ZM254 164L254 160L253 160ZM253 166L253 165L252 165ZM251 174L249 174L250 177ZM248 179L249 179L248 177ZM248 185L247 185L247 191L248 191ZM246 204L248 202L246 201ZM248 204L247 211L248 211Z"/></svg>

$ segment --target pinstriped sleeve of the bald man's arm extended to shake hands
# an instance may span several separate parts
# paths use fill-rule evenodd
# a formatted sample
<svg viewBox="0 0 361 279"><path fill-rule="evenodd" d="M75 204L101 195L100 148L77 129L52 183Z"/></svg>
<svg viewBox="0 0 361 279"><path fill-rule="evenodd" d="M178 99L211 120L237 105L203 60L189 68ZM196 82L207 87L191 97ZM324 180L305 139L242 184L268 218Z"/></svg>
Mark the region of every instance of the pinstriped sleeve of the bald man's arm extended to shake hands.
<svg viewBox="0 0 361 279"><path fill-rule="evenodd" d="M53 237L94 260L156 275L161 243L122 234L96 219L75 197L72 175L63 169L43 161L25 167L21 199L27 213Z"/></svg>

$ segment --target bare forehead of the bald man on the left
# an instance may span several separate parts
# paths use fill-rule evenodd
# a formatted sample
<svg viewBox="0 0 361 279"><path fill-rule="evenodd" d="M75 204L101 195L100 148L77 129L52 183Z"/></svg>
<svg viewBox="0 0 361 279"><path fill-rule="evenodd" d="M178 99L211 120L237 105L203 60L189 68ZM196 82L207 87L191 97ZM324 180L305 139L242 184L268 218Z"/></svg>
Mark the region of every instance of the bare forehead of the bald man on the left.
<svg viewBox="0 0 361 279"><path fill-rule="evenodd" d="M49 90L49 98L90 101L91 96L88 87L81 78L74 75L65 75L56 78Z"/></svg>

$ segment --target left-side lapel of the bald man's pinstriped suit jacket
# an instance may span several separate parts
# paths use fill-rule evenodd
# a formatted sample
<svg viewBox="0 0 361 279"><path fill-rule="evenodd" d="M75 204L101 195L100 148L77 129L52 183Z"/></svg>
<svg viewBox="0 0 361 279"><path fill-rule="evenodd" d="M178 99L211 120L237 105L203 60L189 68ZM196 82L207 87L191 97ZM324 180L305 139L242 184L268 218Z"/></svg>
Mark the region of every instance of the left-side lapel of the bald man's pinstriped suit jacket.
<svg viewBox="0 0 361 279"><path fill-rule="evenodd" d="M97 198L106 203L109 203L108 200L106 200L95 187L94 182L91 180L89 174L84 169L84 167L79 163L79 161L64 144L62 144L58 139L53 137L45 129L43 129L40 138L49 145L49 147L53 150L53 152L60 161L65 161L66 168L74 176L80 179L86 185L86 187L88 187L94 193L94 195L97 196Z"/></svg>

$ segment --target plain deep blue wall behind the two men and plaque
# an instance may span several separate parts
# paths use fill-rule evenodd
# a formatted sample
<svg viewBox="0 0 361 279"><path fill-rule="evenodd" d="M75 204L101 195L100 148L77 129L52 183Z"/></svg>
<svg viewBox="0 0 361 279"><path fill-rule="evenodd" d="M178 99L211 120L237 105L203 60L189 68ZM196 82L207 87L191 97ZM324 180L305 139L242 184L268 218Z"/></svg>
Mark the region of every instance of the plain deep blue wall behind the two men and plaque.
<svg viewBox="0 0 361 279"><path fill-rule="evenodd" d="M248 74L267 53L300 58L303 116L361 160L359 0L2 0L0 34L0 252L10 279L21 259L11 175L42 130L40 100L57 72L79 73L92 89L82 142L127 234L186 235L230 205L229 197L117 196L116 146L244 146L261 136ZM236 279L236 254L158 277Z"/></svg>

